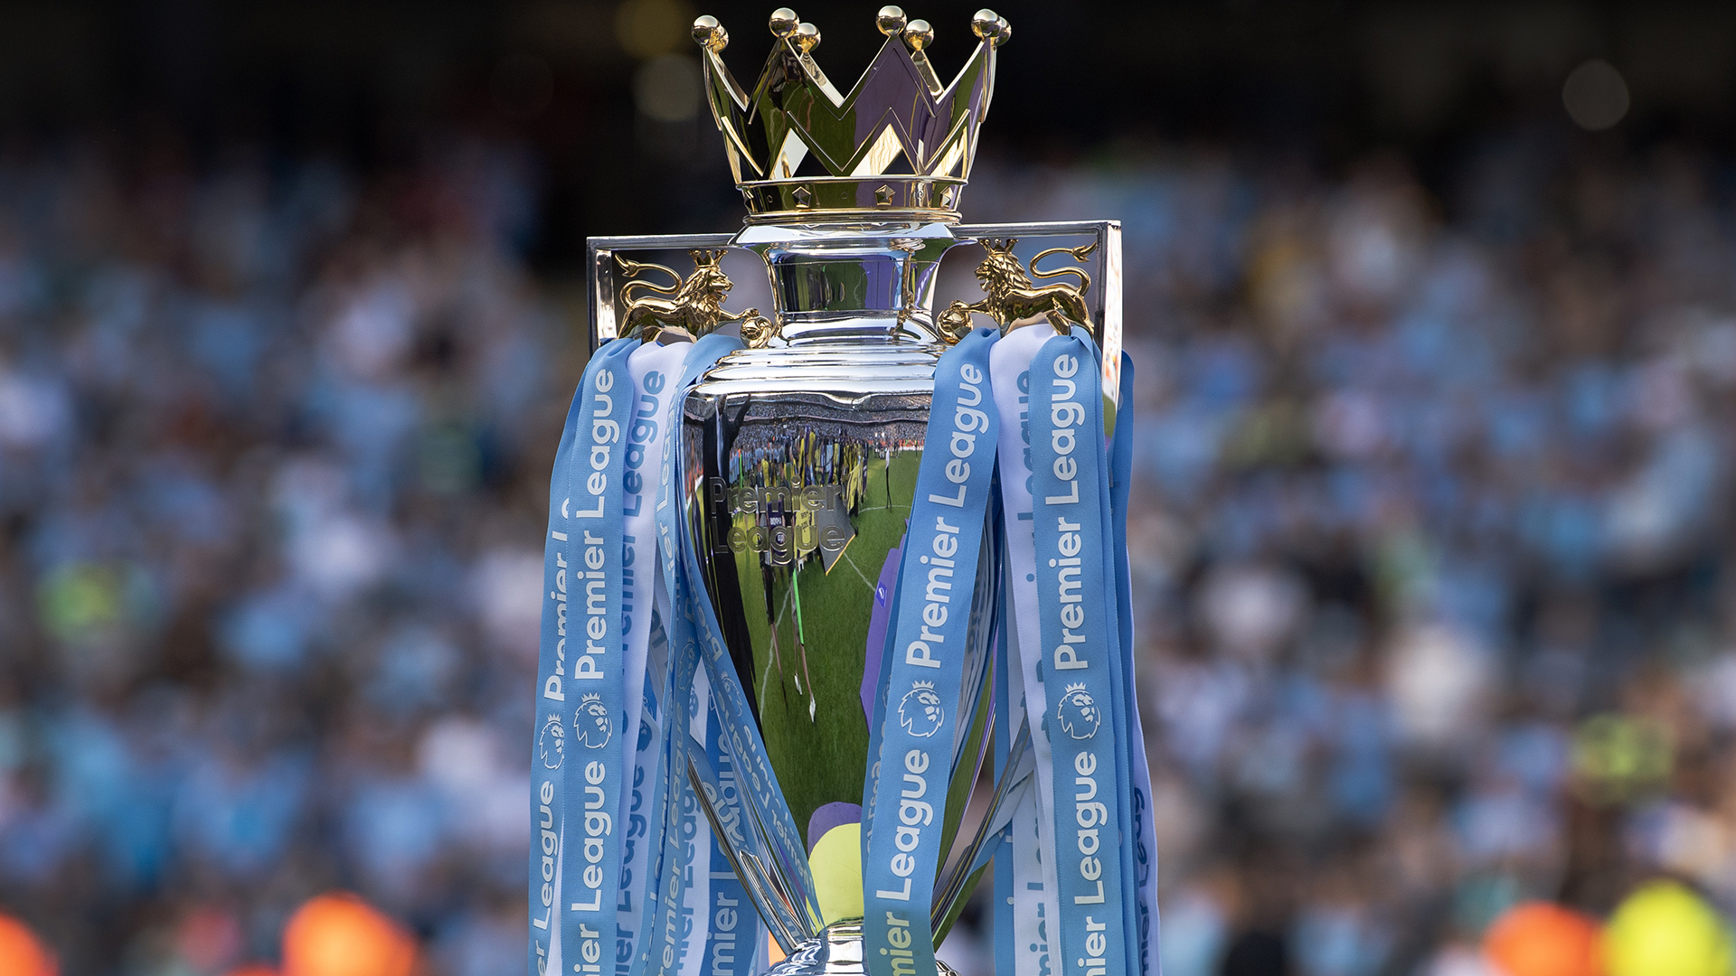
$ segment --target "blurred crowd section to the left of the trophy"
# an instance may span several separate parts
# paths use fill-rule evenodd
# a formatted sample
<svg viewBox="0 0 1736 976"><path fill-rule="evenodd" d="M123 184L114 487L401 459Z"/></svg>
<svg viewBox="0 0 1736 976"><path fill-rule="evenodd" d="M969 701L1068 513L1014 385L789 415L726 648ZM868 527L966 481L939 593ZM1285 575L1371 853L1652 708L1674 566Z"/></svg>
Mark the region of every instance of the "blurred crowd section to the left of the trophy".
<svg viewBox="0 0 1736 976"><path fill-rule="evenodd" d="M0 905L62 973L354 889L521 971L547 465L529 162L0 155Z"/></svg>

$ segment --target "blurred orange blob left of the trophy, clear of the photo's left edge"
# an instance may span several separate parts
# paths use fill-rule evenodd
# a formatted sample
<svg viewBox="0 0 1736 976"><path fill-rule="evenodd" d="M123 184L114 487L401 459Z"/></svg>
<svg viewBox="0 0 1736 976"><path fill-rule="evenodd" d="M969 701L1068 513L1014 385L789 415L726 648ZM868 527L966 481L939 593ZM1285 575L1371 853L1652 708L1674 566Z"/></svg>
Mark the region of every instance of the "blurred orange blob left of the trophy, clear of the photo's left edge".
<svg viewBox="0 0 1736 976"><path fill-rule="evenodd" d="M349 893L321 894L283 927L283 976L410 976L415 938Z"/></svg>

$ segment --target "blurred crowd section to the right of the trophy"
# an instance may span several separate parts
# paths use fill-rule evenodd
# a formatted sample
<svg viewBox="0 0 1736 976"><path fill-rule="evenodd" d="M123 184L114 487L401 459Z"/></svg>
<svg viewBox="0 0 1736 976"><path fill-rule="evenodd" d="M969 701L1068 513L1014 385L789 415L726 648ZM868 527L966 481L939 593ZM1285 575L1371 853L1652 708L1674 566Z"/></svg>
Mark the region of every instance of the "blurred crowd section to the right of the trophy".
<svg viewBox="0 0 1736 976"><path fill-rule="evenodd" d="M1128 149L1167 976L1462 973L1522 900L1736 907L1736 196L1689 149Z"/></svg>

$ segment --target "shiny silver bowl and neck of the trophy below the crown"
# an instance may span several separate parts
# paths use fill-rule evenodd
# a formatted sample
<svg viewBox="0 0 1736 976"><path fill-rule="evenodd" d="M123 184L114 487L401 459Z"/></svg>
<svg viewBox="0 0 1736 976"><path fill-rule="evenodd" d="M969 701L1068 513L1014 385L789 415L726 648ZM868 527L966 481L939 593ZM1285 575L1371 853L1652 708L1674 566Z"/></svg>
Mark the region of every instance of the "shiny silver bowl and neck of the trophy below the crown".
<svg viewBox="0 0 1736 976"><path fill-rule="evenodd" d="M930 721L934 709L970 717L955 724L953 787L937 816L943 851L974 841L958 828L990 731L1000 573L993 531L983 533L976 578L937 570L936 587L970 613L960 698L917 691L877 700L898 549L934 365L946 349L932 326L934 269L958 241L939 222L852 221L757 226L736 243L766 259L779 340L722 358L687 394L682 521L786 802L785 811L750 811L753 823L788 816L802 846L793 854L734 851L736 865L745 875L762 872L741 880L771 901L760 912L790 953L779 971L859 971L852 924L861 917L858 846L877 709L904 722ZM700 790L701 802L708 792ZM766 846L776 847L774 839ZM799 858L806 872L792 870ZM941 926L965 891L955 882L936 893L932 922Z"/></svg>

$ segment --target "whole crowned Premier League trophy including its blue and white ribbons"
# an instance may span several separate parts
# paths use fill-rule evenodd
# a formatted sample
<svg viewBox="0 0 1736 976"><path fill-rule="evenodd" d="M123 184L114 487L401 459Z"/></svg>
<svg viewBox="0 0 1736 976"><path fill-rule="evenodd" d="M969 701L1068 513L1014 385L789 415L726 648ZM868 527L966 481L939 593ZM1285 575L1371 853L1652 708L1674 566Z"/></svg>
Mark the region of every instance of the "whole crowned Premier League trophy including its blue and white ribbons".
<svg viewBox="0 0 1736 976"><path fill-rule="evenodd" d="M842 94L779 9L745 90L700 17L746 222L590 240L545 544L538 976L950 973L990 867L998 973L1156 966L1120 226L960 224L1010 26L979 10L950 85L927 23L877 26ZM981 297L936 314L955 248ZM764 260L764 314L724 307L733 250Z"/></svg>

